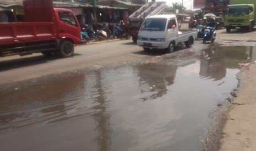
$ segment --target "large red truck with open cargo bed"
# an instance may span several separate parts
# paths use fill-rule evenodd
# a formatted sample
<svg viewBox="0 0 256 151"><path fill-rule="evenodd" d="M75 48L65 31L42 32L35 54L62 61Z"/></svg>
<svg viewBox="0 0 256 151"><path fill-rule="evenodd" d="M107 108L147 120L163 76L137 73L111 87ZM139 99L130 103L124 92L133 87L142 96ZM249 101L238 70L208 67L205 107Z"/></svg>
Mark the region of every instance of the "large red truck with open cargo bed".
<svg viewBox="0 0 256 151"><path fill-rule="evenodd" d="M0 56L42 53L69 57L80 44L80 25L72 10L52 0L24 0L24 22L0 23Z"/></svg>

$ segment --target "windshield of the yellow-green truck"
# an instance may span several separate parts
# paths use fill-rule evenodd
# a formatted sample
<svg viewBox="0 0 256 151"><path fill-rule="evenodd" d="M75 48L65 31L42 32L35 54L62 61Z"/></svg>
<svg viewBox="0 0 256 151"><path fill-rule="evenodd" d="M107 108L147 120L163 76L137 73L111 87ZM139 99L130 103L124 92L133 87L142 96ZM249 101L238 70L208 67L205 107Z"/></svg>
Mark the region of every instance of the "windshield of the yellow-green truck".
<svg viewBox="0 0 256 151"><path fill-rule="evenodd" d="M250 12L250 8L248 5L232 6L232 7L228 7L228 10L227 10L228 15L248 15L249 12Z"/></svg>

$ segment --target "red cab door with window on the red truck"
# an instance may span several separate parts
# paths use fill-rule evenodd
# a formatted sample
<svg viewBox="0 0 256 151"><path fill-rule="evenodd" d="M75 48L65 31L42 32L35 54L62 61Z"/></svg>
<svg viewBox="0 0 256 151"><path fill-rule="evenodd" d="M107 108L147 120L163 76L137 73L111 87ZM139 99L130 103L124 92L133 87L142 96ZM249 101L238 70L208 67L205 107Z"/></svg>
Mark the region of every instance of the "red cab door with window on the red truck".
<svg viewBox="0 0 256 151"><path fill-rule="evenodd" d="M80 43L80 25L72 11L55 8L58 37L72 37L74 43Z"/></svg>

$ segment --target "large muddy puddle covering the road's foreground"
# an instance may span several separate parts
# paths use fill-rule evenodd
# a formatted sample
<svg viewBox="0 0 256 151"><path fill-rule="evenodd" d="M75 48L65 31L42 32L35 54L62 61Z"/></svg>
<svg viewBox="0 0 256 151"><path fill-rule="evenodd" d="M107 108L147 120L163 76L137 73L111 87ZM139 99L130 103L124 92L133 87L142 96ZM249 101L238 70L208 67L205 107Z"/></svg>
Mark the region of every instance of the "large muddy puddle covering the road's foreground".
<svg viewBox="0 0 256 151"><path fill-rule="evenodd" d="M1 150L201 150L209 114L254 49L213 46L183 66L154 59L2 90Z"/></svg>

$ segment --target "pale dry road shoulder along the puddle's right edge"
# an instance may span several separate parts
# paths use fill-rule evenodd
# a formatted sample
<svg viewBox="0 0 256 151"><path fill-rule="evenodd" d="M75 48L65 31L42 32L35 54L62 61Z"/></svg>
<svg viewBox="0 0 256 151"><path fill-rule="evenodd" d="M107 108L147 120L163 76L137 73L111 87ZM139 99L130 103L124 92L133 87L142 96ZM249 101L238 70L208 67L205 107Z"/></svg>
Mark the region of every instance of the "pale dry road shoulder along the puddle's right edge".
<svg viewBox="0 0 256 151"><path fill-rule="evenodd" d="M255 150L256 148L256 64L241 73L241 89L227 113L220 151Z"/></svg>

